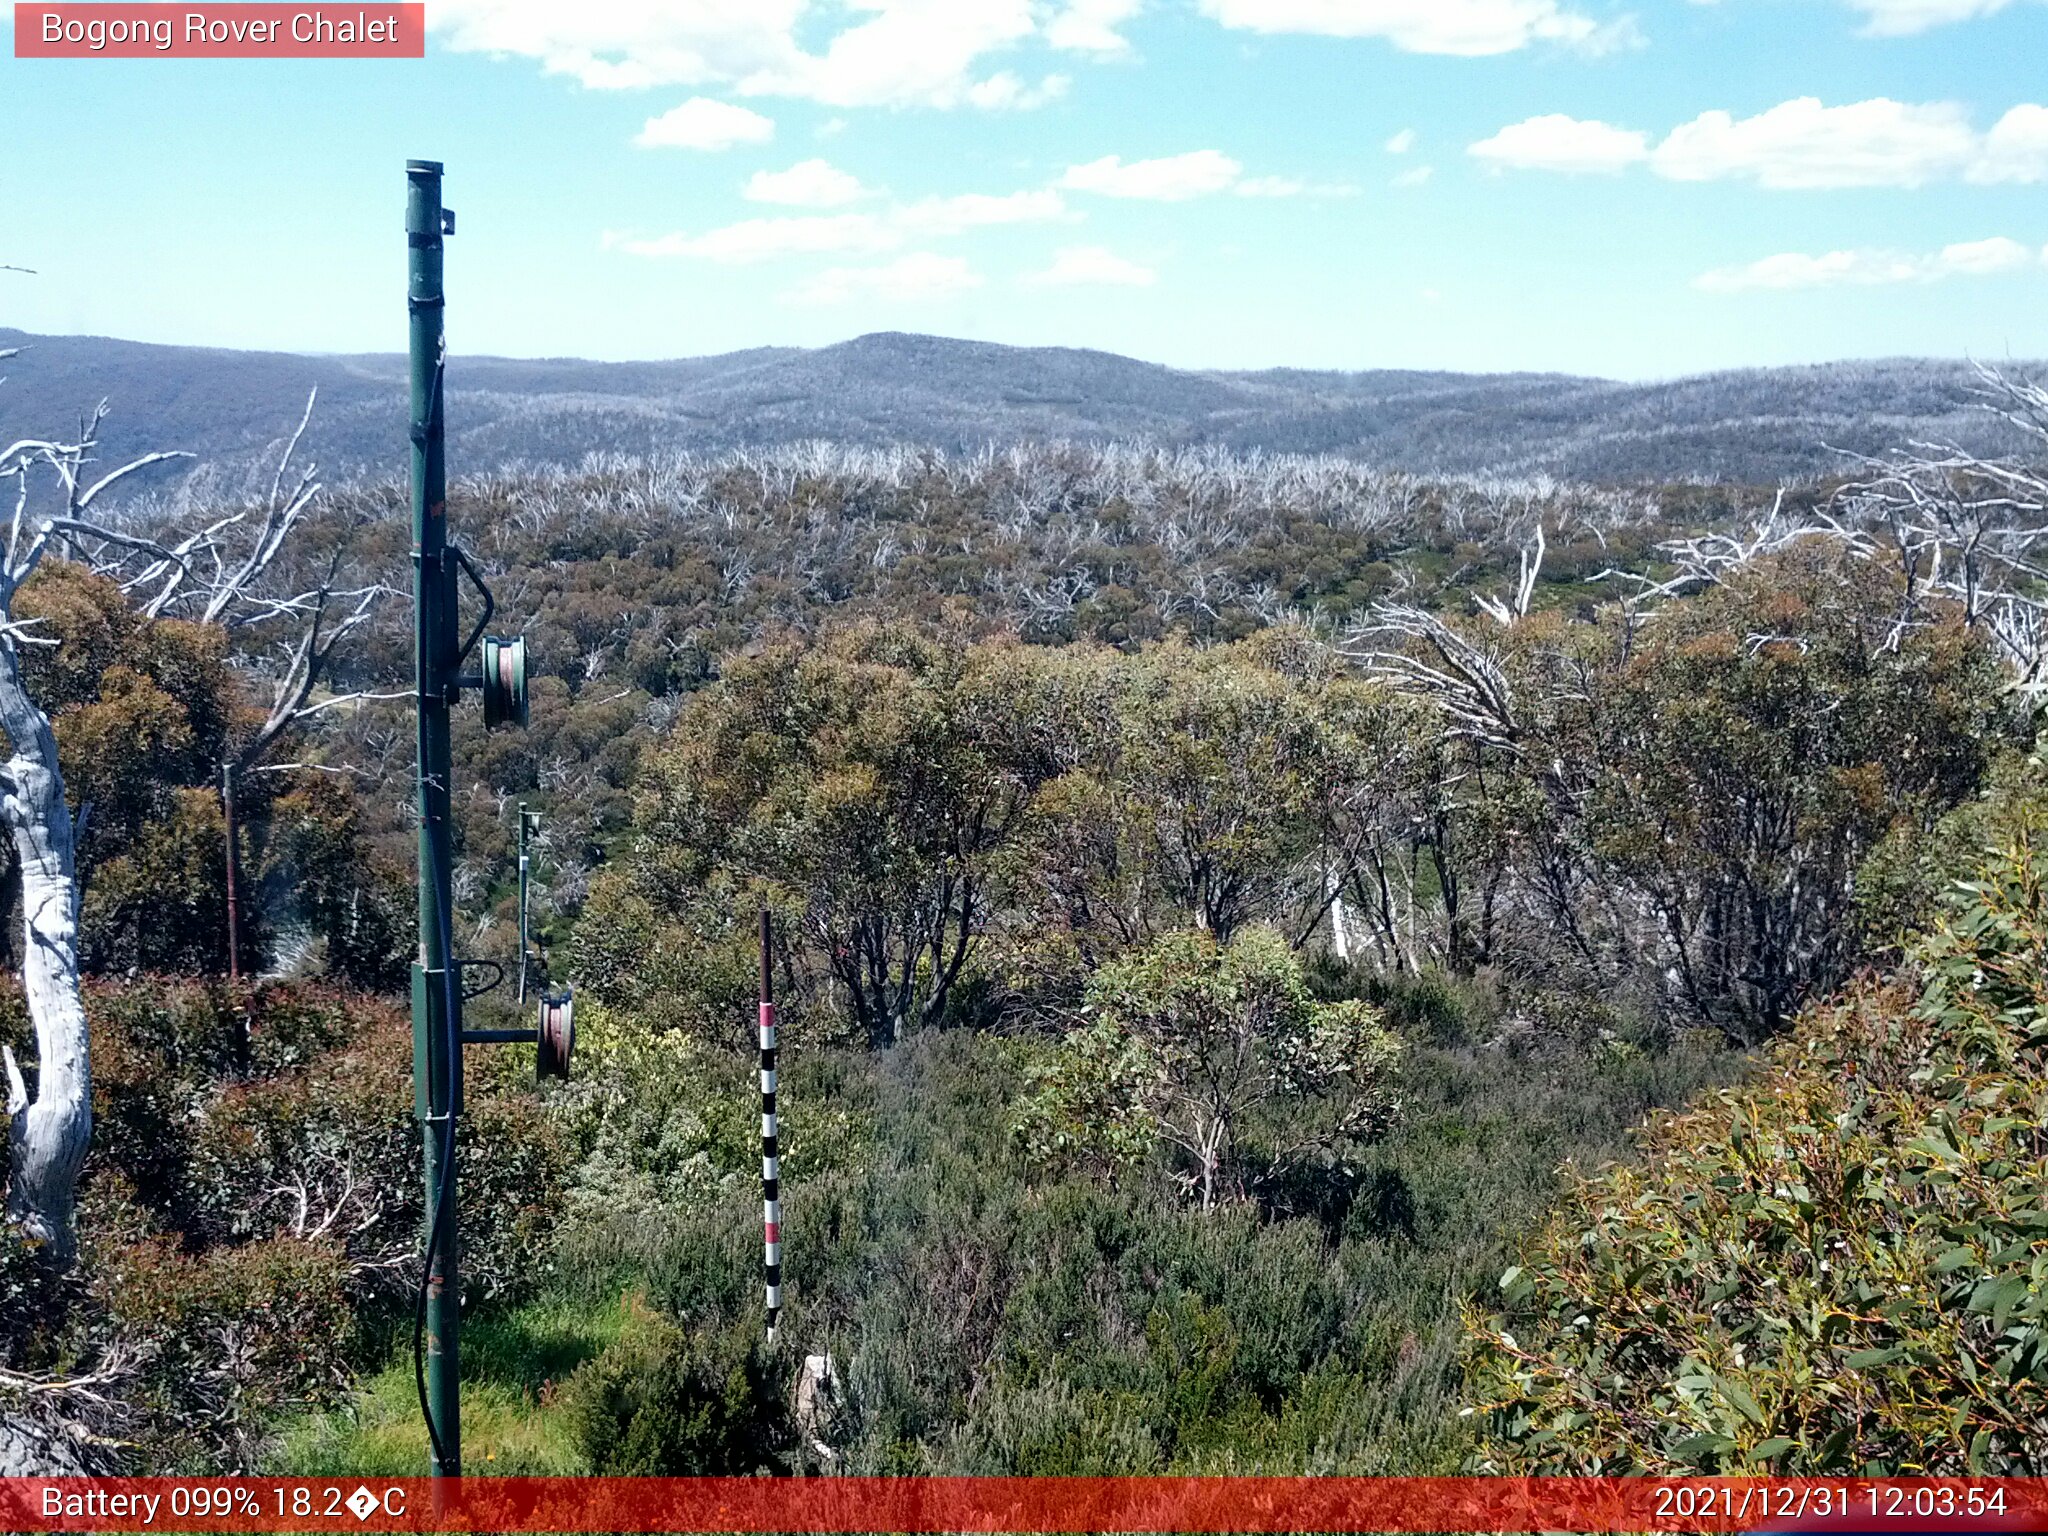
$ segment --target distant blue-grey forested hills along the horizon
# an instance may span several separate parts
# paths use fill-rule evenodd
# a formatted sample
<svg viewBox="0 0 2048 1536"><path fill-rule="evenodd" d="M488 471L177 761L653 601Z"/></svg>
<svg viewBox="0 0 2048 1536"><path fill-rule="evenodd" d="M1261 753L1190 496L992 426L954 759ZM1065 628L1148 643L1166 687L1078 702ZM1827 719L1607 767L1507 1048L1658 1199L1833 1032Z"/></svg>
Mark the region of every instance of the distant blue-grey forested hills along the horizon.
<svg viewBox="0 0 2048 1536"><path fill-rule="evenodd" d="M186 449L215 473L266 457L305 391L307 446L330 475L401 461L406 360L27 336L4 367L0 440L41 436L109 399L104 449ZM2007 365L2025 373L2025 367ZM1077 348L877 334L817 350L756 348L674 362L457 356L451 463L578 463L590 453L827 438L973 449L1147 438L1335 453L1419 473L1591 481L1772 483L1825 473L1835 449L1903 440L2009 446L1958 360L1833 362L1667 383L1569 375L1186 373Z"/></svg>

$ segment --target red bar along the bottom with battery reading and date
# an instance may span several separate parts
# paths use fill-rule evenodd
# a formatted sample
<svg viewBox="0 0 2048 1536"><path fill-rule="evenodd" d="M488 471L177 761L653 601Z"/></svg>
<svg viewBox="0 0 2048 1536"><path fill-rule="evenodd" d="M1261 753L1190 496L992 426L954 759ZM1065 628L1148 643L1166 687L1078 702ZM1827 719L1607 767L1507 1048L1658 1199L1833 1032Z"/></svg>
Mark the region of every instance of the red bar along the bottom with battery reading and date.
<svg viewBox="0 0 2048 1536"><path fill-rule="evenodd" d="M2048 1479L4 1479L0 1530L2048 1530Z"/></svg>

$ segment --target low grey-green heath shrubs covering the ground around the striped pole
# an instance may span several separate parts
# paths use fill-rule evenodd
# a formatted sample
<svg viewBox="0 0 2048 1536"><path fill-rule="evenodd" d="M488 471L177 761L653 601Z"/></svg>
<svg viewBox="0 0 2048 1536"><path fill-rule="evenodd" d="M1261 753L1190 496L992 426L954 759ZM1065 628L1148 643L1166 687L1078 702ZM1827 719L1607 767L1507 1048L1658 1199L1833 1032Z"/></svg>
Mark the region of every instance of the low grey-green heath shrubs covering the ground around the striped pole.
<svg viewBox="0 0 2048 1536"><path fill-rule="evenodd" d="M608 1010L598 1030L598 1077L641 1053L635 1116L666 1102L670 1122L713 1126L727 1104L748 1108L745 1055L670 1036L629 1047ZM1407 1108L1380 1139L1294 1165L1260 1204L1202 1214L1157 1159L1110 1186L1081 1157L1032 1157L1012 1126L1049 1049L946 1030L887 1053L786 1051L776 1352L829 1352L844 1372L836 1470L1454 1470L1468 1450L1456 1298L1540 1219L1563 1151L1608 1151L1647 1106L1726 1071L1677 1049L1417 1047ZM662 1327L623 1339L565 1401L594 1405L604 1446L645 1417L637 1466L815 1464L782 1438L788 1382L748 1376L741 1391L733 1374L760 1331L758 1169L670 1188L672 1147L614 1145L602 1176L637 1169L662 1198L608 1212L571 1196L553 1284L584 1309L639 1292ZM594 1176L586 1163L573 1178Z"/></svg>

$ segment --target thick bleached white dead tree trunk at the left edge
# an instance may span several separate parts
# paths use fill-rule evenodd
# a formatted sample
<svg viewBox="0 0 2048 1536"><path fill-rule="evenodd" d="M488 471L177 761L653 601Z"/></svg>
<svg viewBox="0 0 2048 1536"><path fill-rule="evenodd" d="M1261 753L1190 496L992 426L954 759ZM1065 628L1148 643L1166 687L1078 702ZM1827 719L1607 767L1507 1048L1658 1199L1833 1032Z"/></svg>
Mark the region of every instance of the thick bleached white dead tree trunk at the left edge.
<svg viewBox="0 0 2048 1536"><path fill-rule="evenodd" d="M20 651L12 643L0 643L0 729L12 748L0 811L20 860L20 979L37 1059L31 1100L12 1051L6 1053L12 1116L6 1214L27 1237L47 1243L57 1264L70 1266L72 1200L92 1137L86 1006L78 989L78 866L57 737L23 688Z"/></svg>

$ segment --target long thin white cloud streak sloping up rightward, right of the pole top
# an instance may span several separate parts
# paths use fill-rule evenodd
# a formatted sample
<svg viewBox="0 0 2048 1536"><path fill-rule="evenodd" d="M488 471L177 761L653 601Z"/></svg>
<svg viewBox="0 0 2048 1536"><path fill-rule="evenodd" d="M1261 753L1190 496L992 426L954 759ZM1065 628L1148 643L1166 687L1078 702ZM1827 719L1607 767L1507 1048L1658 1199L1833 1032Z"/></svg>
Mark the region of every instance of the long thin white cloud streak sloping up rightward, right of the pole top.
<svg viewBox="0 0 2048 1536"><path fill-rule="evenodd" d="M901 250L913 240L938 240L967 229L1008 223L1053 223L1069 217L1059 193L1030 190L991 197L928 197L887 213L813 213L774 219L741 219L700 236L606 236L608 250L629 256L694 256L727 266L752 266L784 256L877 256Z"/></svg>

